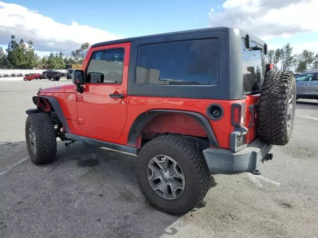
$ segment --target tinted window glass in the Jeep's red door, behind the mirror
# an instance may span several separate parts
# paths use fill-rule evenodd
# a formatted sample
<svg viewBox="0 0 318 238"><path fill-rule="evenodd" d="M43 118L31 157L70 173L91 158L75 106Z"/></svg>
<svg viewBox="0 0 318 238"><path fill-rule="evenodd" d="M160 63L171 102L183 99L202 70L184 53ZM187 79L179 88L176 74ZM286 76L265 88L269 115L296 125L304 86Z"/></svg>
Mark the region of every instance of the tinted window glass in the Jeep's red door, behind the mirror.
<svg viewBox="0 0 318 238"><path fill-rule="evenodd" d="M124 66L123 48L95 51L87 67L87 83L121 83Z"/></svg>

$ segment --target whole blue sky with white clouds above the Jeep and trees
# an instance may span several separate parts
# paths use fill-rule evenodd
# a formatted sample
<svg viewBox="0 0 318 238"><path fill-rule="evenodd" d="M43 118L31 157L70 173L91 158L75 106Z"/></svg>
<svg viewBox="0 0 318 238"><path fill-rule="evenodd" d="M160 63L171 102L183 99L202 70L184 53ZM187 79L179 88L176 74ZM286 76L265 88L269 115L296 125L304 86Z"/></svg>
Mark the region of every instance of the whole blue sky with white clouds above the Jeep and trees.
<svg viewBox="0 0 318 238"><path fill-rule="evenodd" d="M318 52L318 0L0 0L0 47L13 34L38 55L81 43L206 27L236 27L295 54Z"/></svg>

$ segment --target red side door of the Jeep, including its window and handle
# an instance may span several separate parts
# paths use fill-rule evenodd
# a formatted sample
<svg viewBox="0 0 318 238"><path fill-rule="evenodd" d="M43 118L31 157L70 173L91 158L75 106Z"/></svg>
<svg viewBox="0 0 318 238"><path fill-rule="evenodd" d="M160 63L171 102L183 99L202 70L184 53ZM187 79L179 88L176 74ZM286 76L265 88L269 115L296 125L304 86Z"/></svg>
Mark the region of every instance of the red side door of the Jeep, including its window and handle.
<svg viewBox="0 0 318 238"><path fill-rule="evenodd" d="M83 135L120 137L127 119L130 42L91 48L83 63L83 93L77 92L78 125Z"/></svg>

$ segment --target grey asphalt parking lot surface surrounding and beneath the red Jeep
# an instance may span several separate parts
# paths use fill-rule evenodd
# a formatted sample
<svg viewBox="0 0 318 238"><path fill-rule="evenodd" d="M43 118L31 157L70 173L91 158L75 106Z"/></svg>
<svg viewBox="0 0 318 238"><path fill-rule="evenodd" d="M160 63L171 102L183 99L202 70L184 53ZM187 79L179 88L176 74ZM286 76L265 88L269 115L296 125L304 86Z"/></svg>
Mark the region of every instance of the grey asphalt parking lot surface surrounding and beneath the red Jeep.
<svg viewBox="0 0 318 238"><path fill-rule="evenodd" d="M318 100L298 101L291 141L260 176L214 176L200 208L170 216L139 191L133 156L58 141L54 163L31 163L25 110L66 81L0 79L0 238L318 237Z"/></svg>

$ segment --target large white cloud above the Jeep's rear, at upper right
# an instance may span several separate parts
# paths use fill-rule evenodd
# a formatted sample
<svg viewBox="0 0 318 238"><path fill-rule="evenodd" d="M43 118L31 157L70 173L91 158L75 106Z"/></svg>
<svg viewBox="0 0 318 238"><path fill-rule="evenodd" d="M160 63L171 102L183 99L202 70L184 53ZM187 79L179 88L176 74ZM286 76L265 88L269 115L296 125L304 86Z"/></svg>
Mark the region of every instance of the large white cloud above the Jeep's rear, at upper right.
<svg viewBox="0 0 318 238"><path fill-rule="evenodd" d="M318 0L227 0L211 26L237 27L262 39L318 31Z"/></svg>

